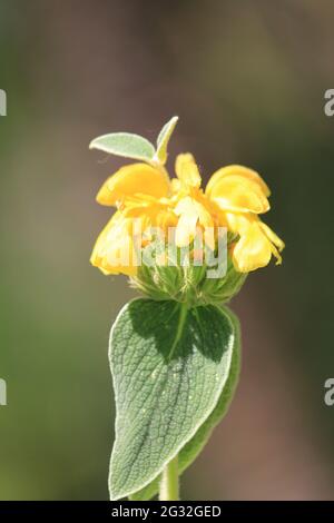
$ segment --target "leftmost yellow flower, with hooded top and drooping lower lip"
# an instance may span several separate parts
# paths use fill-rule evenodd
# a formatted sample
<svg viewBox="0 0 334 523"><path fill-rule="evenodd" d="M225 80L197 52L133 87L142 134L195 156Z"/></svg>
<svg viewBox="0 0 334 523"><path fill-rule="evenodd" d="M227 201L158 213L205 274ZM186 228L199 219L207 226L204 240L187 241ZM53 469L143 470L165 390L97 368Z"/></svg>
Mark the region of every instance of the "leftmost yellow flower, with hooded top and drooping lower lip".
<svg viewBox="0 0 334 523"><path fill-rule="evenodd" d="M176 216L166 198L169 190L170 180L165 171L146 164L121 167L110 176L97 201L118 210L99 235L90 263L104 274L136 275L148 229L176 226Z"/></svg>

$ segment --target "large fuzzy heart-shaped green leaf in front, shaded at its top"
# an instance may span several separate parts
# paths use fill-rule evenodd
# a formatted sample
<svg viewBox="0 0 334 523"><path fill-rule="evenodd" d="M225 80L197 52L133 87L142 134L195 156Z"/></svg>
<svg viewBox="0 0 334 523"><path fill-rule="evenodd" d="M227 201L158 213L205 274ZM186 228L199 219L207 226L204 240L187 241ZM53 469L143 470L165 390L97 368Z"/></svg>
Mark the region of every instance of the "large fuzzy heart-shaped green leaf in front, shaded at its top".
<svg viewBox="0 0 334 523"><path fill-rule="evenodd" d="M196 438L220 403L236 336L229 315L213 305L188 310L136 299L124 307L109 352L117 409L111 500L149 485ZM195 438L185 463L199 452Z"/></svg>

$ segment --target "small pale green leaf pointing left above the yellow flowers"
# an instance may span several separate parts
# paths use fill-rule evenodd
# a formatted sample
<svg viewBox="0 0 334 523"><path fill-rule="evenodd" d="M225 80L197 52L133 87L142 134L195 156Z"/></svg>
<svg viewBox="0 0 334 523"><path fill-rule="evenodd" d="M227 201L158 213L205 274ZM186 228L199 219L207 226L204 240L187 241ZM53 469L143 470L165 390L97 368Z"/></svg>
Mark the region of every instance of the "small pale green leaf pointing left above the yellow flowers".
<svg viewBox="0 0 334 523"><path fill-rule="evenodd" d="M112 132L95 138L89 149L99 149L110 155L125 156L137 160L151 161L155 148L146 138L130 132Z"/></svg>

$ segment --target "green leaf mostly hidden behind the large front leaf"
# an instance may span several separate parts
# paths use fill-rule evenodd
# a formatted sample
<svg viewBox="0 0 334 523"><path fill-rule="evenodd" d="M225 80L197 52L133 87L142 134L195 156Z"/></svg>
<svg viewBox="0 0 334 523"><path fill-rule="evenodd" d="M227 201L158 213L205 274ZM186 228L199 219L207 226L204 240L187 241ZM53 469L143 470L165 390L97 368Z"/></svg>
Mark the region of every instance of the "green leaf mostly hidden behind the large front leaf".
<svg viewBox="0 0 334 523"><path fill-rule="evenodd" d="M181 448L178 455L179 473L181 474L196 460L208 442L214 428L220 423L228 411L233 399L240 371L240 329L237 317L227 308L220 308L222 314L229 317L235 330L235 346L227 382L223 388L219 401L206 422L198 428L195 436ZM154 497L159 491L160 477L156 477L149 485L131 494L134 501L146 501Z"/></svg>

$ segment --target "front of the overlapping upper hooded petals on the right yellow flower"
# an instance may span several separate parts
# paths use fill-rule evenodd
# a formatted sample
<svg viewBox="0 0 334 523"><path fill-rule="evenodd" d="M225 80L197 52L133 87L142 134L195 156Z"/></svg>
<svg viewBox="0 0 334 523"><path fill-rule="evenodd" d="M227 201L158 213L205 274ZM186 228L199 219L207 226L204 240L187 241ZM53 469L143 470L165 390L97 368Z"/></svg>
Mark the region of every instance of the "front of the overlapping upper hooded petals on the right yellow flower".
<svg viewBox="0 0 334 523"><path fill-rule="evenodd" d="M263 214L269 209L261 186L238 175L222 177L206 195L224 210Z"/></svg>

